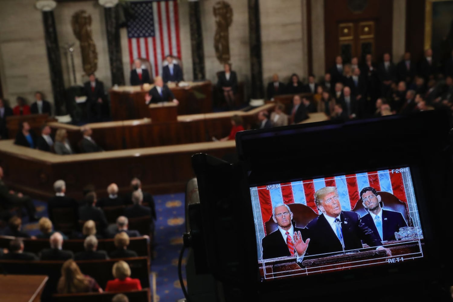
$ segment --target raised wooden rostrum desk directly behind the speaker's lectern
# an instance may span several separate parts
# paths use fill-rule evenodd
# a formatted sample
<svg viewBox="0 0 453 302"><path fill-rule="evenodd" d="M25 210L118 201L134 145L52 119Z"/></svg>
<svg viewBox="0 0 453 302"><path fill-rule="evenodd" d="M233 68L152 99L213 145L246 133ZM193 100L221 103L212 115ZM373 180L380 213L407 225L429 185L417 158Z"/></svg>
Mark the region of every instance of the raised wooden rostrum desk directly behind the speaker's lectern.
<svg viewBox="0 0 453 302"><path fill-rule="evenodd" d="M179 101L178 115L212 112L212 84L205 82L188 82L189 86L176 87L169 85L175 98ZM153 86L150 86L151 88ZM149 118L145 95L149 89L141 86L121 86L110 92L111 115L113 120L134 120Z"/></svg>

